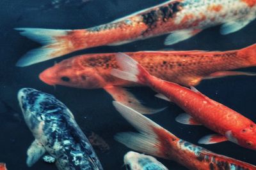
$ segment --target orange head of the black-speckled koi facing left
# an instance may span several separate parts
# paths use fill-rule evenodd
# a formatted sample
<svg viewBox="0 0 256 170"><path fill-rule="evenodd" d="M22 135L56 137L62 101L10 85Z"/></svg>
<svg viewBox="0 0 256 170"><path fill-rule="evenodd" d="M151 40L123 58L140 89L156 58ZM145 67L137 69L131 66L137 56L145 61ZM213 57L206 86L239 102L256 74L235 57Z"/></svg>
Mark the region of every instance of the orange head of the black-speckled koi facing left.
<svg viewBox="0 0 256 170"><path fill-rule="evenodd" d="M45 69L39 75L40 80L48 85L63 85L81 89L104 87L104 80L95 67L84 67L76 60L63 60Z"/></svg>

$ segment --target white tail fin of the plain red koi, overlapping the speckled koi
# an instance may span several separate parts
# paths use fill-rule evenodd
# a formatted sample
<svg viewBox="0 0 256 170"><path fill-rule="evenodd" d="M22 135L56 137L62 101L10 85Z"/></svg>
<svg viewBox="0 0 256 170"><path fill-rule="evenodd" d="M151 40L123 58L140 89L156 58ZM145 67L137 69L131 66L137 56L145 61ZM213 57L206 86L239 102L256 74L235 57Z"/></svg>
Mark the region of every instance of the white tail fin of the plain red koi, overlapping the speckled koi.
<svg viewBox="0 0 256 170"><path fill-rule="evenodd" d="M118 53L116 55L116 61L118 62L118 66L120 66L123 71L113 69L111 71L113 76L147 85L150 74L142 66L140 66L136 60L132 59L125 53Z"/></svg>

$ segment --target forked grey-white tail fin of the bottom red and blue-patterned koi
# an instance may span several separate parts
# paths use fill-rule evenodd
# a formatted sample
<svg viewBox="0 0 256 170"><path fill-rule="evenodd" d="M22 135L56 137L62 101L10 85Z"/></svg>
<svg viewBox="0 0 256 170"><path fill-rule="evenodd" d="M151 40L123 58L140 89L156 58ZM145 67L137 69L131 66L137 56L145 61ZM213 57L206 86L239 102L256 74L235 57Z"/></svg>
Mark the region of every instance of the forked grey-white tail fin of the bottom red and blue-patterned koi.
<svg viewBox="0 0 256 170"><path fill-rule="evenodd" d="M124 104L116 101L113 104L116 110L140 132L118 133L115 135L116 141L138 152L170 159L166 150L170 150L171 147L169 148L169 146L172 144L168 141L169 139L177 139L176 136Z"/></svg>

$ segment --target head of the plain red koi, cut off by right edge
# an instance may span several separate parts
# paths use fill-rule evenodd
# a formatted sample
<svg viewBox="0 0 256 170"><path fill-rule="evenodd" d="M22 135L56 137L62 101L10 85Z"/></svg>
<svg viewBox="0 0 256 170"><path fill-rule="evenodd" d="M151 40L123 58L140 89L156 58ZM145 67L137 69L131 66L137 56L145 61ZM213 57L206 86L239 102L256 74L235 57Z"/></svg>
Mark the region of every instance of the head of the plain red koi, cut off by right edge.
<svg viewBox="0 0 256 170"><path fill-rule="evenodd" d="M249 148L256 150L256 125L250 124L248 127L237 131L226 132L226 137L228 140L243 146L244 148Z"/></svg>

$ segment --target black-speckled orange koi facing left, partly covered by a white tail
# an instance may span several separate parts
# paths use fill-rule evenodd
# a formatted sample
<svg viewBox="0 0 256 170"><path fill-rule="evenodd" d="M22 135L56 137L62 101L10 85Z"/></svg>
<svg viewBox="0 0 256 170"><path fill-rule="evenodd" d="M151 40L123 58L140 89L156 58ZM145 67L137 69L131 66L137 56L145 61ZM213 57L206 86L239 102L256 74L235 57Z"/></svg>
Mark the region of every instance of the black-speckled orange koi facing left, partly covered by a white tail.
<svg viewBox="0 0 256 170"><path fill-rule="evenodd" d="M39 78L48 85L65 85L82 89L103 88L115 101L140 113L159 111L146 108L133 94L123 88L136 83L121 80L110 74L111 69L119 68L115 55L116 53L97 53L72 57L45 69L40 73ZM221 76L256 75L227 71L256 66L256 44L227 52L129 52L127 55L137 60L150 74L184 86L195 86L203 79Z"/></svg>

